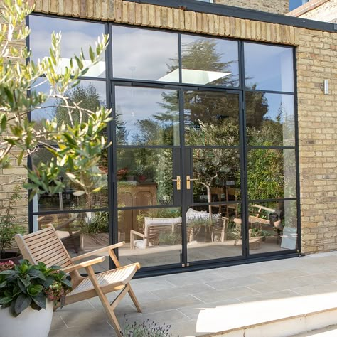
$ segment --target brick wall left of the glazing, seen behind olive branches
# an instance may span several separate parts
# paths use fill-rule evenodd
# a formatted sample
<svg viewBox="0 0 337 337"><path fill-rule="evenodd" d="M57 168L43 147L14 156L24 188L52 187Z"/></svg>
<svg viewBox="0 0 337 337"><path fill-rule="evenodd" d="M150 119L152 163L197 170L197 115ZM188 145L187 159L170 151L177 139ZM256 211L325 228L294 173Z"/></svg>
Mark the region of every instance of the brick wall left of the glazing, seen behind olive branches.
<svg viewBox="0 0 337 337"><path fill-rule="evenodd" d="M0 9L1 9L0 5ZM1 18L0 18L1 20ZM2 22L1 22L2 23ZM16 48L23 48L25 46L23 42L16 42L12 44ZM22 62L25 62L22 60ZM13 193L14 188L18 185L22 186L23 181L26 181L27 173L26 169L22 166L18 166L15 156L18 155L12 153L14 161L13 166L9 169L0 168L0 216L4 215L6 206L8 205L8 199ZM14 211L11 213L16 216L16 222L22 225L28 225L28 200L27 191L23 188L20 189L20 194L22 196L21 200L18 200L14 205Z"/></svg>

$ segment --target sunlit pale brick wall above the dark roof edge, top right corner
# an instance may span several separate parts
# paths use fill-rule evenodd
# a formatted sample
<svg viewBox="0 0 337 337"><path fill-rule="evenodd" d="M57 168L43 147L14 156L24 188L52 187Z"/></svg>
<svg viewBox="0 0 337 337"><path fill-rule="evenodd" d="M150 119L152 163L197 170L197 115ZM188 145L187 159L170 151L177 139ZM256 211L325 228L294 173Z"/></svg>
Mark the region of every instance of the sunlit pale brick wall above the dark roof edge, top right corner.
<svg viewBox="0 0 337 337"><path fill-rule="evenodd" d="M337 23L337 0L311 0L288 15Z"/></svg>

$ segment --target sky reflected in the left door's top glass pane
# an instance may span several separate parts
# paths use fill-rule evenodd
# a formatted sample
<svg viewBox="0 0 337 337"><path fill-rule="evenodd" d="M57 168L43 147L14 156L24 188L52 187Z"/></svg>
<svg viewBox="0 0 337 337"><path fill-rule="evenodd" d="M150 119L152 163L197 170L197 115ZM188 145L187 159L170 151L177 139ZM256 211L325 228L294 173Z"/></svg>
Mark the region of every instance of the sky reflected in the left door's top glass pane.
<svg viewBox="0 0 337 337"><path fill-rule="evenodd" d="M137 123L141 120L151 119L154 122L159 122L163 129L178 123L178 111L170 111L169 120L166 121L159 121L154 117L154 115L168 112L165 107L161 106L163 103L169 104L163 99L163 94L171 95L174 101L173 106L175 108L178 106L178 92L176 90L116 87L115 92L117 120L127 130L126 139L124 139L126 144L133 144L135 137L139 135ZM178 144L178 135L176 134L174 135L174 144Z"/></svg>

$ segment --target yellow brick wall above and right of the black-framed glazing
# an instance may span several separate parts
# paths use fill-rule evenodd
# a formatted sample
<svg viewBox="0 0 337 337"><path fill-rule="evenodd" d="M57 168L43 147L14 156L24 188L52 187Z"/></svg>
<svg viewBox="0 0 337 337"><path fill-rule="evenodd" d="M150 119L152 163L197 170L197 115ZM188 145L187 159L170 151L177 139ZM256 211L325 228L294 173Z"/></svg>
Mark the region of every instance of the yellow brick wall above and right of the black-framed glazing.
<svg viewBox="0 0 337 337"><path fill-rule="evenodd" d="M302 252L337 249L336 33L122 0L37 0L36 12L296 46Z"/></svg>

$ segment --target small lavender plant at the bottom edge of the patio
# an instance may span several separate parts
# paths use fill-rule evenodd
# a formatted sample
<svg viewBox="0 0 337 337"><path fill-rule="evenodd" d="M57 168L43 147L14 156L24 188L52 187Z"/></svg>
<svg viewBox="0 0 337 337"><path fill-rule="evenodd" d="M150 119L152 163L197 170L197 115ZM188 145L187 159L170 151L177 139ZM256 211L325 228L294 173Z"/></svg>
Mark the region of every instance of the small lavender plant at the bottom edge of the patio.
<svg viewBox="0 0 337 337"><path fill-rule="evenodd" d="M122 331L124 337L169 337L172 336L170 333L171 326L164 323L163 326L159 326L158 323L152 321L150 323L149 319L142 323L134 322L128 323L125 321L125 326Z"/></svg>

